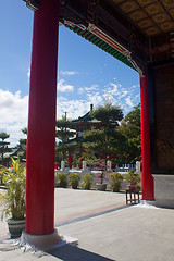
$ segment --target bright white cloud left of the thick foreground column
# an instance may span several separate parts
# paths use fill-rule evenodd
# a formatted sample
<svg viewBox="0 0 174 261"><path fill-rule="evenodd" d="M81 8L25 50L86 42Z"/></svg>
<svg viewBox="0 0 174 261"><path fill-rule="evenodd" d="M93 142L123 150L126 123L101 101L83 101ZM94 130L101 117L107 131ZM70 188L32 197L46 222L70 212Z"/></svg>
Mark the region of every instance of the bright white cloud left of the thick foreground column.
<svg viewBox="0 0 174 261"><path fill-rule="evenodd" d="M11 146L25 137L21 132L27 126L28 96L21 96L21 91L12 94L0 89L0 132L10 134Z"/></svg>

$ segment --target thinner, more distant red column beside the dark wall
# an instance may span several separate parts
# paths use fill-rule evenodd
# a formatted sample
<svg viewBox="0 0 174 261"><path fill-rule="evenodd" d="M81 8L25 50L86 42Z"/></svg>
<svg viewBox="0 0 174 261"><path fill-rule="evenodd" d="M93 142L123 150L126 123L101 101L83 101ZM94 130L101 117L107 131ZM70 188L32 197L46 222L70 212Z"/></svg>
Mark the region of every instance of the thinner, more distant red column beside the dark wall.
<svg viewBox="0 0 174 261"><path fill-rule="evenodd" d="M146 77L140 77L140 103L141 103L142 199L154 200L153 177L151 175L150 167L148 72Z"/></svg>

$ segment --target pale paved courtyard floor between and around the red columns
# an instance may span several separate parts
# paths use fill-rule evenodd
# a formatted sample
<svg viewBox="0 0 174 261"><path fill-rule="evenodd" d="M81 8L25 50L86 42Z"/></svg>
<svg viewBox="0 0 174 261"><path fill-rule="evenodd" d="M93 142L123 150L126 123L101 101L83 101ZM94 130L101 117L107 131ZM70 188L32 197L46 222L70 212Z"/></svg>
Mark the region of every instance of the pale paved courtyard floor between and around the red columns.
<svg viewBox="0 0 174 261"><path fill-rule="evenodd" d="M126 207L124 194L59 188L55 226L78 246L32 253L0 244L0 261L174 261L173 221L174 210Z"/></svg>

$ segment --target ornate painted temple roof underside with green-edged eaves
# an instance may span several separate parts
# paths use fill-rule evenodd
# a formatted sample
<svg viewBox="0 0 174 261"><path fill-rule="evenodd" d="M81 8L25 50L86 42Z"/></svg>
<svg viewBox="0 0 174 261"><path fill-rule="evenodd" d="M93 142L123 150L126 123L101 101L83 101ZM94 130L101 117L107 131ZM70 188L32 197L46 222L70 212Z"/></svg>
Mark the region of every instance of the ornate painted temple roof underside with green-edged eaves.
<svg viewBox="0 0 174 261"><path fill-rule="evenodd" d="M174 60L174 0L60 0L60 24L141 76L147 64Z"/></svg>

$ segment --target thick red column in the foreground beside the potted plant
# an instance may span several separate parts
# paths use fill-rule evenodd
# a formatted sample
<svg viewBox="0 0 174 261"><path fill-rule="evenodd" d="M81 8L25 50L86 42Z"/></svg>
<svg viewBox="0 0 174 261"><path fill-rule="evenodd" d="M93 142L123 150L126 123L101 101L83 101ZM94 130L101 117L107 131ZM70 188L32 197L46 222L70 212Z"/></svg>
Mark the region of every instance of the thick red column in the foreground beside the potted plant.
<svg viewBox="0 0 174 261"><path fill-rule="evenodd" d="M26 233L54 231L54 147L59 1L34 15L26 164Z"/></svg>

